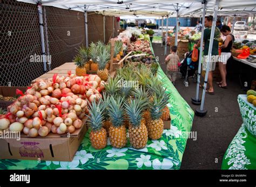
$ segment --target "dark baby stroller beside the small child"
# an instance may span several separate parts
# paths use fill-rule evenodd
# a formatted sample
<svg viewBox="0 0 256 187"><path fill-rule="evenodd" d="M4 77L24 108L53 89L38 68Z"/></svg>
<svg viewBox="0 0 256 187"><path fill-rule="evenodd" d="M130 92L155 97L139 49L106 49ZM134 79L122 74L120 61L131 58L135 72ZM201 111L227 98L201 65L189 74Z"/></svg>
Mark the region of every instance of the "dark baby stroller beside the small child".
<svg viewBox="0 0 256 187"><path fill-rule="evenodd" d="M193 78L193 82L197 82L197 70L198 70L198 62L193 62L191 60L192 57L192 52L187 52L185 53L185 59L181 61L181 65L179 67L180 73L181 73L181 78L184 78L184 85L188 85L188 78ZM199 56L199 55L198 55Z"/></svg>

